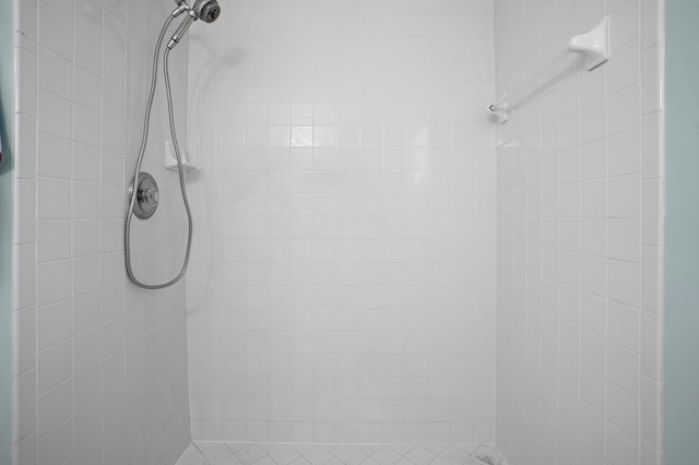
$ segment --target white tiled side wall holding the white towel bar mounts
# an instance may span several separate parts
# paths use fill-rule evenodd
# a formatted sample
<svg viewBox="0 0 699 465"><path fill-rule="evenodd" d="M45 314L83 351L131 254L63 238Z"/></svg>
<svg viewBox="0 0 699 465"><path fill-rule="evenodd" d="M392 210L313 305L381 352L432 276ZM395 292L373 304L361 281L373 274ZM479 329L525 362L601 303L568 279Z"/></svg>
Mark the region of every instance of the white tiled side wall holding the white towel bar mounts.
<svg viewBox="0 0 699 465"><path fill-rule="evenodd" d="M662 463L662 11L496 2L498 94L544 70L498 131L496 440L513 465ZM604 14L606 64L558 55Z"/></svg>

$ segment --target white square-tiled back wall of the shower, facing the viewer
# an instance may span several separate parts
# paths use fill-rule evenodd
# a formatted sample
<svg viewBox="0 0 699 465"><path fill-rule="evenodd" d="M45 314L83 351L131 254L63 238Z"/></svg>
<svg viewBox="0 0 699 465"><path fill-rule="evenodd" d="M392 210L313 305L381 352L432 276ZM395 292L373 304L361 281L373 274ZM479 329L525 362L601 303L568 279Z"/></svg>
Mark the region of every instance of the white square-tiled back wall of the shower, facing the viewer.
<svg viewBox="0 0 699 465"><path fill-rule="evenodd" d="M192 29L193 437L490 442L490 1L241 1Z"/></svg>

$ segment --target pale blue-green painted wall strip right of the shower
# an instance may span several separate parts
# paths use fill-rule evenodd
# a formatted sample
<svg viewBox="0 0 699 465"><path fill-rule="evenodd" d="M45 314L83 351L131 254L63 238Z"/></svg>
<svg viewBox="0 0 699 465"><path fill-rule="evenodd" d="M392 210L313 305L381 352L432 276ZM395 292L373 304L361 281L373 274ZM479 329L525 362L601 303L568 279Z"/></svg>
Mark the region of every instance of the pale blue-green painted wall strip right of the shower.
<svg viewBox="0 0 699 465"><path fill-rule="evenodd" d="M699 1L666 0L665 464L699 444Z"/></svg>

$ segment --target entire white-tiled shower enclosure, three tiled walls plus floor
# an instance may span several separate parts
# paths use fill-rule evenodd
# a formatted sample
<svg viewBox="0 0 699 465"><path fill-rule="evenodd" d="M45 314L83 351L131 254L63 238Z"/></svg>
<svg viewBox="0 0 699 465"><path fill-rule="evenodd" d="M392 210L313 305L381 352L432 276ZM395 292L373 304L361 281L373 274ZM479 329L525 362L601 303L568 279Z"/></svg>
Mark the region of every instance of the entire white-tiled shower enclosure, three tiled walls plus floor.
<svg viewBox="0 0 699 465"><path fill-rule="evenodd" d="M662 1L221 3L149 293L175 3L16 2L16 464L661 464ZM560 53L607 14L607 63Z"/></svg>

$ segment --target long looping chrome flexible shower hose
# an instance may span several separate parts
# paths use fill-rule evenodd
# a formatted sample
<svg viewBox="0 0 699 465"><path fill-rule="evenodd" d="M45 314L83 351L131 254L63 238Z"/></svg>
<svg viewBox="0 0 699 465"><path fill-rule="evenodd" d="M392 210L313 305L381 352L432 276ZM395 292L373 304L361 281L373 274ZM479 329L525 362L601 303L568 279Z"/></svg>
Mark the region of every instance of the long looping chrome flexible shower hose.
<svg viewBox="0 0 699 465"><path fill-rule="evenodd" d="M177 170L179 172L179 188L182 194L182 202L185 204L185 210L187 211L187 223L188 223L187 249L185 252L185 261L182 263L182 266L179 273L177 274L177 276L175 276L173 279L166 283L145 284L139 281L139 278L137 278L135 275L133 274L133 269L131 266L131 220L133 219L133 208L137 202L139 176L141 175L141 165L143 164L143 156L145 154L145 147L149 141L151 110L153 109L153 99L155 97L155 87L157 83L157 59L158 59L158 56L161 55L161 47L163 46L163 39L165 38L167 28L169 27L174 19L175 19L175 15L171 14L165 21L165 24L163 25L163 29L161 31L161 35L157 38L157 44L155 46L155 53L153 57L153 74L151 78L151 91L149 93L147 103L145 105L145 117L143 120L143 135L141 138L141 147L139 148L139 156L135 162L135 169L133 174L134 189L132 190L132 193L131 193L131 201L129 202L129 211L127 213L127 217L123 226L123 255L125 255L125 262L127 267L127 275L129 276L129 279L131 281L131 283L133 283L134 285L137 285L142 289L163 289L180 281L182 276L185 276L185 273L187 272L187 265L189 264L189 253L192 247L192 213L189 207L189 200L187 199L187 188L185 186L185 169L182 168L182 158L180 156L179 144L177 143L177 133L175 130L175 114L173 110L173 92L170 88L170 76L169 76L169 70L168 70L168 58L171 49L169 47L166 47L165 53L163 55L163 74L165 76L165 91L167 94L167 110L168 110L168 117L169 117L169 123L170 123L170 135L173 138L173 146L175 147L175 156L177 157Z"/></svg>

